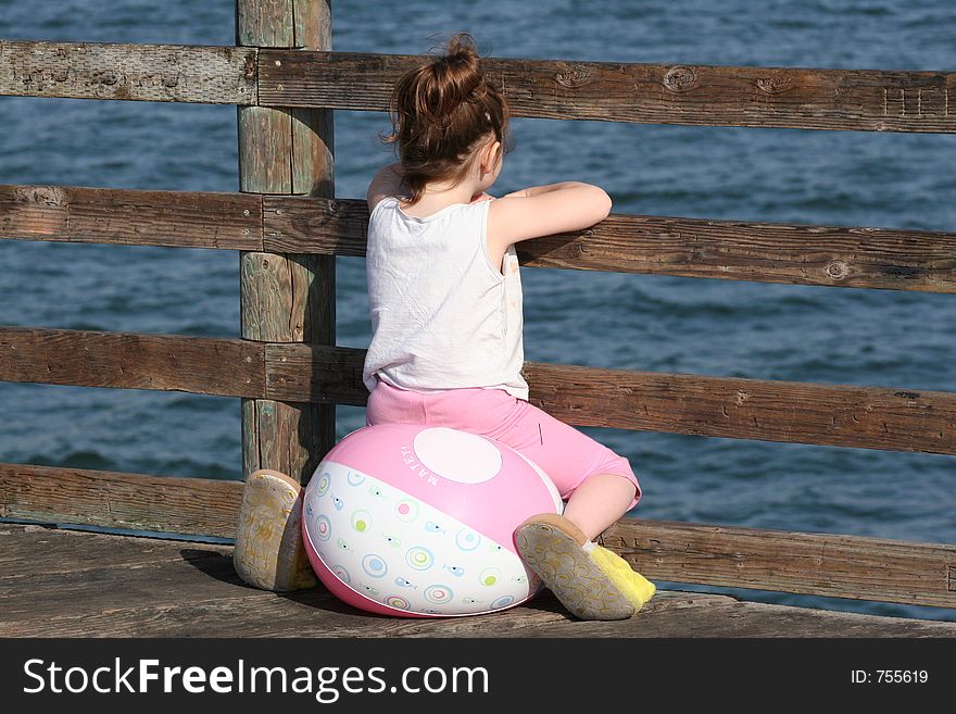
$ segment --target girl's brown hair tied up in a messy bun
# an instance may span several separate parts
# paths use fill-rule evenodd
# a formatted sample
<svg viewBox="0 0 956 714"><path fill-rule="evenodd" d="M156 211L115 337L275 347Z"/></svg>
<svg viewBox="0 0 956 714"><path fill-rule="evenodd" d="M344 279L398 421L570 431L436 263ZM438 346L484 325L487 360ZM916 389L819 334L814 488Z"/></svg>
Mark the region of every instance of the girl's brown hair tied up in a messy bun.
<svg viewBox="0 0 956 714"><path fill-rule="evenodd" d="M381 137L398 143L405 185L415 203L425 186L452 179L457 186L468 175L478 146L493 135L506 146L508 108L498 87L485 76L468 33L454 35L445 53L406 72L389 101L393 131Z"/></svg>

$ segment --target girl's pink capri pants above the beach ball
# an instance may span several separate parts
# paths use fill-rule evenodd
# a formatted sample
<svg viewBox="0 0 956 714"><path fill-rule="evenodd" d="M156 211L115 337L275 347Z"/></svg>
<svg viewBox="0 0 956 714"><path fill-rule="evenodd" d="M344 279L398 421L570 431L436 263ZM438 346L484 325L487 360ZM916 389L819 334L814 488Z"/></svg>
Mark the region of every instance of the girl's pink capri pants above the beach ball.
<svg viewBox="0 0 956 714"><path fill-rule="evenodd" d="M629 509L641 500L641 486L627 459L504 389L425 393L379 379L368 396L365 424L395 423L445 426L506 443L541 466L565 501L595 474L617 474L633 483L637 492Z"/></svg>

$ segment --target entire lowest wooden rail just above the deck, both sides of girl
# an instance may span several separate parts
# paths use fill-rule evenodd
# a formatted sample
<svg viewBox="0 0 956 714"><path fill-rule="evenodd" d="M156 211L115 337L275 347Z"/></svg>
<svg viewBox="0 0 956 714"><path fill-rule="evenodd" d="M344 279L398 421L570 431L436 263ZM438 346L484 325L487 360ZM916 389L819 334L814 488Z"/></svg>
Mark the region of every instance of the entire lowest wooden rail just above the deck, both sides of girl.
<svg viewBox="0 0 956 714"><path fill-rule="evenodd" d="M0 463L0 517L235 538L241 483ZM624 519L604 543L652 579L956 606L956 547Z"/></svg>

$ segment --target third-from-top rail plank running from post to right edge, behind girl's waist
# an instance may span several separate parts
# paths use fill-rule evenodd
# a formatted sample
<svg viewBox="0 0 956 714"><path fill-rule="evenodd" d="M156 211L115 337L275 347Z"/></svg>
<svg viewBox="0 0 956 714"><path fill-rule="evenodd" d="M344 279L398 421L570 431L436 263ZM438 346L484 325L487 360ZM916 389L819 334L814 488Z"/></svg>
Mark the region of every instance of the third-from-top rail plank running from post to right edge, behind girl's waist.
<svg viewBox="0 0 956 714"><path fill-rule="evenodd" d="M365 350L269 345L274 399L364 405ZM576 426L956 453L956 393L526 362L529 401Z"/></svg>

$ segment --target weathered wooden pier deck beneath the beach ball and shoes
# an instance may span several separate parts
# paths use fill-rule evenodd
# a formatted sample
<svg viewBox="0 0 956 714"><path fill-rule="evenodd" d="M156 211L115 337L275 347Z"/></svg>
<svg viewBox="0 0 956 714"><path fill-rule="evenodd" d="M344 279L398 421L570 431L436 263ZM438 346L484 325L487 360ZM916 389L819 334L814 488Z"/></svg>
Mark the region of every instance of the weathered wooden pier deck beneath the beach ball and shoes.
<svg viewBox="0 0 956 714"><path fill-rule="evenodd" d="M0 637L956 637L956 623L659 591L634 617L571 618L550 594L485 616L367 615L318 587L244 585L230 546L0 524Z"/></svg>

